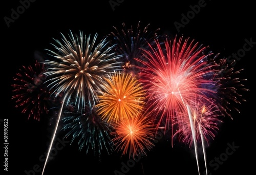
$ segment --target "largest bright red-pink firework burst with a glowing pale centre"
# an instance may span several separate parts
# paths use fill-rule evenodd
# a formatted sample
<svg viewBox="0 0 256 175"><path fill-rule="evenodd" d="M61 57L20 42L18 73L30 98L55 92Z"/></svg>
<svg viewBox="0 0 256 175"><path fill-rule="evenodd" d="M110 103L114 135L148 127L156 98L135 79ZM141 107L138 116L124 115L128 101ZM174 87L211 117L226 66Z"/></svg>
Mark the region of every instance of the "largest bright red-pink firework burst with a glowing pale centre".
<svg viewBox="0 0 256 175"><path fill-rule="evenodd" d="M216 71L205 61L206 47L194 40L175 37L173 41L166 39L164 45L155 41L156 48L143 52L148 61L137 60L145 65L141 68L140 81L147 89L148 113L158 119L157 127L162 122L167 127L172 125L169 122L176 113L187 110L186 104L195 96L207 101L207 94L216 93L204 88L204 84L216 84L205 78Z"/></svg>

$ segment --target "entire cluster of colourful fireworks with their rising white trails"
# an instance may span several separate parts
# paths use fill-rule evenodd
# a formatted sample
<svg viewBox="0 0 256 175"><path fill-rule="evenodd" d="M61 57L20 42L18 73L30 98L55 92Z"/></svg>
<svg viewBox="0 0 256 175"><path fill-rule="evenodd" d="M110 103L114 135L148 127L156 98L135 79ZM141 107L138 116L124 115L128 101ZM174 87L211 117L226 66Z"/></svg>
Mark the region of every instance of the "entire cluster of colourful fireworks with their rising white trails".
<svg viewBox="0 0 256 175"><path fill-rule="evenodd" d="M225 116L238 111L245 79L226 58L207 52L193 39L171 38L140 29L114 27L114 32L54 39L52 59L23 67L13 77L12 99L28 118L48 114L52 100L61 96L57 123L49 146L61 132L78 149L121 152L131 158L155 147L158 130L170 128L168 139L194 148L213 142ZM88 37L87 37L88 36ZM236 104L236 105L234 105ZM54 106L55 107L55 106ZM162 126L164 124L164 126Z"/></svg>

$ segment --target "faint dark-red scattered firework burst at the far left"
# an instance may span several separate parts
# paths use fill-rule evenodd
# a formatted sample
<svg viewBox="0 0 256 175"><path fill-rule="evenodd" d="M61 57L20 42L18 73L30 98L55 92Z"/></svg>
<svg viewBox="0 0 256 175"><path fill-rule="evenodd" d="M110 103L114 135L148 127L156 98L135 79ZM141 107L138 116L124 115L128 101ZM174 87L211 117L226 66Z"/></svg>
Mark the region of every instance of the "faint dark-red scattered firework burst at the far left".
<svg viewBox="0 0 256 175"><path fill-rule="evenodd" d="M44 64L35 61L34 65L23 66L13 77L12 99L17 103L16 107L23 107L22 113L28 113L28 119L40 120L42 114L48 113L51 92L44 84L44 72Z"/></svg>

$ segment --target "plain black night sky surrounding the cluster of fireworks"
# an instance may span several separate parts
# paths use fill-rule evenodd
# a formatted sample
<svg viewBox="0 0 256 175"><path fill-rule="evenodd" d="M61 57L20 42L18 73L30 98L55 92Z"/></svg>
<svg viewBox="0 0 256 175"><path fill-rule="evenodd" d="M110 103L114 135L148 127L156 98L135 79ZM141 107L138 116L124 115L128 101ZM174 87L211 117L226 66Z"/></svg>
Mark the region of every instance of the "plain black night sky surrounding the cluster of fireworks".
<svg viewBox="0 0 256 175"><path fill-rule="evenodd" d="M113 0L114 1L114 0ZM189 23L178 32L174 23L181 23L181 14L187 14L189 7L198 5L200 1L119 1L119 6L112 9L109 1L40 1L31 2L29 7L19 15L13 23L7 26L4 18L11 17L11 9L20 6L19 1L2 2L2 114L8 119L8 172L5 174L40 174L45 162L40 156L48 150L53 132L54 120L45 117L41 121L27 119L20 108L15 107L11 100L12 77L22 65L34 62L35 51L44 52L50 47L52 38L59 38L60 33L67 34L69 30L84 34L99 34L103 37L113 31L113 26L121 28L125 23L127 28L136 26L141 21L141 27L150 24L149 30L160 28L160 33L170 36L184 35L194 38L205 46L210 46L214 53L229 56L242 49L245 39L255 36L255 6L250 1L224 3L222 1L205 1L205 7L191 18ZM211 174L252 174L255 172L255 113L254 113L254 75L255 45L246 52L235 65L235 69L244 69L240 78L246 78L246 88L249 92L241 92L247 102L240 105L241 113L231 112L233 120L224 118L215 141L207 147L207 166ZM4 133L1 131L1 133ZM2 134L4 135L4 134ZM58 138L63 137L58 132ZM68 140L69 142L69 140ZM122 162L126 164L127 157L113 152L105 155L99 161L93 154L78 151L76 143L66 145L57 152L54 159L46 167L44 174L122 174ZM220 156L225 157L228 144L239 146L233 154L227 157L217 169L209 163ZM2 149L3 150L3 149ZM179 144L171 146L168 137L162 138L152 151L147 152L124 174L198 174L193 150ZM1 162L4 161L4 152ZM3 163L2 163L3 164ZM37 167L38 165L38 167ZM204 163L200 169L203 174ZM32 172L33 170L33 172ZM116 171L116 172L117 172ZM2 173L1 173L2 174Z"/></svg>

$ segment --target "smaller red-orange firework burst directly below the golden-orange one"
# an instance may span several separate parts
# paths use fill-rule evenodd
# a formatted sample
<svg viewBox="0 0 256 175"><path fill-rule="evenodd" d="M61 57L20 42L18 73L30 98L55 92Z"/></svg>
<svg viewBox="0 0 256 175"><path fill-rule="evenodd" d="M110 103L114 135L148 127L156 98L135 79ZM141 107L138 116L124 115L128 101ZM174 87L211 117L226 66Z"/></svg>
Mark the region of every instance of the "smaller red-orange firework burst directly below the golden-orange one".
<svg viewBox="0 0 256 175"><path fill-rule="evenodd" d="M154 146L154 125L153 121L141 113L133 118L126 118L117 123L112 139L117 151L122 155L129 153L129 157L146 155L146 150Z"/></svg>

